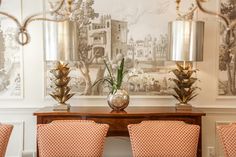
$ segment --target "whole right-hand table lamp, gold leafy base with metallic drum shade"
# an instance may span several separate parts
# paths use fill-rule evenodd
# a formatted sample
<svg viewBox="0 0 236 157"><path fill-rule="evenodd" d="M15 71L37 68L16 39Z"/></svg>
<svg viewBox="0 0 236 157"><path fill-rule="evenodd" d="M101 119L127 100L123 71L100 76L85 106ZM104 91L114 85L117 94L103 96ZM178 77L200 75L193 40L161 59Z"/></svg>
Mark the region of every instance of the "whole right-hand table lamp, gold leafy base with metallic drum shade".
<svg viewBox="0 0 236 157"><path fill-rule="evenodd" d="M177 20L169 22L168 32L168 60L175 61L177 68L172 70L176 78L172 94L179 103L177 110L191 110L188 103L197 96L193 84L197 78L192 77L196 70L192 69L192 62L203 61L204 22L193 20Z"/></svg>

